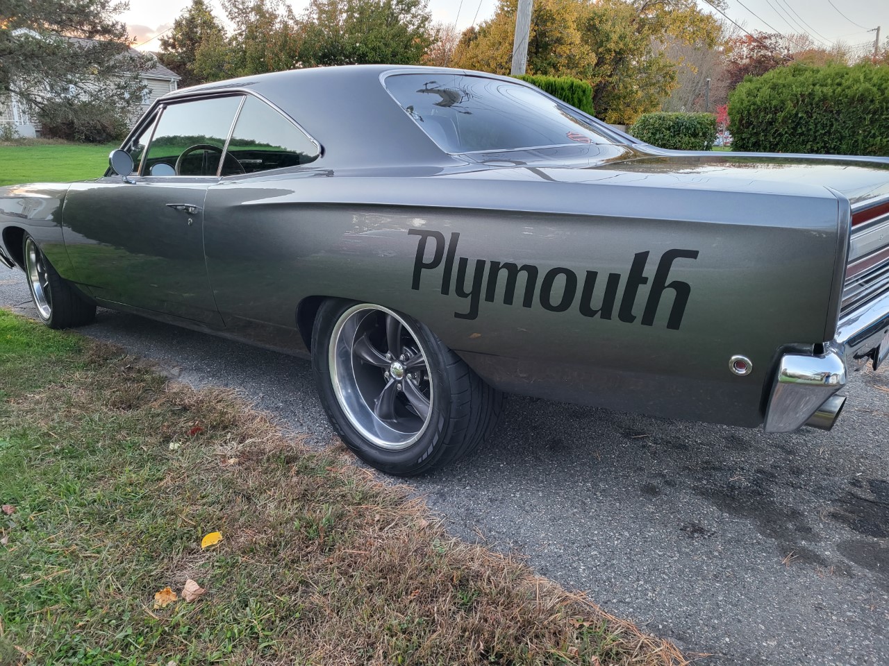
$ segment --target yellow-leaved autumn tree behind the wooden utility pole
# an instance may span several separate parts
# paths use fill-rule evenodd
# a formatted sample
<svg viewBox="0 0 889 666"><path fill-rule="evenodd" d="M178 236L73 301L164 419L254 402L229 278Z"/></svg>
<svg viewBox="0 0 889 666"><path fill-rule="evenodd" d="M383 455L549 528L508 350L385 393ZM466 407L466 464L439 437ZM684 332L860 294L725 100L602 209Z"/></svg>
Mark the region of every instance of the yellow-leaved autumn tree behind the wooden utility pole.
<svg viewBox="0 0 889 666"><path fill-rule="evenodd" d="M499 0L491 20L463 34L454 66L509 74L516 12L517 0ZM676 85L676 65L656 45L669 37L712 46L719 33L693 0L538 0L527 72L587 81L597 115L632 123Z"/></svg>

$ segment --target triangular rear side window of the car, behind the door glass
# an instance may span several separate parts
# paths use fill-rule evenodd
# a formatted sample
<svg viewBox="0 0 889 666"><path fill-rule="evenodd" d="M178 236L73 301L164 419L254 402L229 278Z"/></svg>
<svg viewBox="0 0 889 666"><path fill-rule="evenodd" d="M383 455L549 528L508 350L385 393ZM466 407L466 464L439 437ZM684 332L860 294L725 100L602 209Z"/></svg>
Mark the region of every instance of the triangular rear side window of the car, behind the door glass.
<svg viewBox="0 0 889 666"><path fill-rule="evenodd" d="M317 158L316 144L296 125L260 99L247 97L228 142L222 175L299 166Z"/></svg>

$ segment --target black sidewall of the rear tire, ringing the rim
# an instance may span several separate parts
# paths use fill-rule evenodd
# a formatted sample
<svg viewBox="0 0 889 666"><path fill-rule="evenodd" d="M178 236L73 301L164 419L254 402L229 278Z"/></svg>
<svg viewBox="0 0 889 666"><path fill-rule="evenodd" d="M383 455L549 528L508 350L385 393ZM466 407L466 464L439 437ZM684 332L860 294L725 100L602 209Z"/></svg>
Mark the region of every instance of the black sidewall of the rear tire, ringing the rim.
<svg viewBox="0 0 889 666"><path fill-rule="evenodd" d="M429 376L433 383L431 416L426 429L410 446L396 450L381 448L368 441L351 423L340 405L331 380L329 349L332 332L340 317L355 305L364 304L359 301L330 299L318 309L312 332L312 369L324 410L346 446L364 462L388 474L407 475L423 472L444 455L453 420L452 382L447 372L443 345L420 321L393 311L404 319L416 337L420 338L418 342L426 354Z"/></svg>

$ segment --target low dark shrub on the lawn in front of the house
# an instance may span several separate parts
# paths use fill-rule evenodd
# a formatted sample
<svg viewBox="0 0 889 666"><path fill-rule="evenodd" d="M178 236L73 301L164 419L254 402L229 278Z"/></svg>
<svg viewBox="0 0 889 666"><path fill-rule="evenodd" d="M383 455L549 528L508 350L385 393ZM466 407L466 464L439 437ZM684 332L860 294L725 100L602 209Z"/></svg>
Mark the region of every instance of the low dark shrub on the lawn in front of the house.
<svg viewBox="0 0 889 666"><path fill-rule="evenodd" d="M37 114L44 137L85 143L123 139L129 129L115 107L91 101L52 101Z"/></svg>

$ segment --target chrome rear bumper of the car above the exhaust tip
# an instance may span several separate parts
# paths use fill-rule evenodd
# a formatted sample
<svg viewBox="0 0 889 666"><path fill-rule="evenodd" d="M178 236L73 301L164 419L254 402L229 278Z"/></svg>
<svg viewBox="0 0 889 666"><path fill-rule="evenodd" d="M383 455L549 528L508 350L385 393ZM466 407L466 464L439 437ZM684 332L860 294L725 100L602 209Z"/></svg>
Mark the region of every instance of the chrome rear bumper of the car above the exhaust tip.
<svg viewBox="0 0 889 666"><path fill-rule="evenodd" d="M803 425L829 430L845 401L834 393L845 386L846 369L868 361L876 368L887 335L889 293L846 314L821 355L784 354L765 410L765 431L790 432Z"/></svg>

